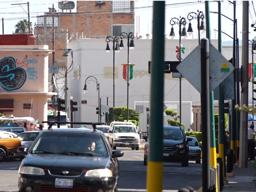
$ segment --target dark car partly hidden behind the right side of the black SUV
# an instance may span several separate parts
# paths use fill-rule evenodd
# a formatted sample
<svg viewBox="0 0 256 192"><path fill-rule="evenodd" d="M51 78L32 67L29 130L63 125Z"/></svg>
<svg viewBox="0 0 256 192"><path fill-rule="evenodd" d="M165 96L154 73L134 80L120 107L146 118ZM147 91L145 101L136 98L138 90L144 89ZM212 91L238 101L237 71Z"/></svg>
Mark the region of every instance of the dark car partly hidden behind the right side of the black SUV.
<svg viewBox="0 0 256 192"><path fill-rule="evenodd" d="M196 164L201 163L201 148L199 146L199 143L195 137L189 137L191 138L191 141L188 141L188 146L189 146L189 161L196 161Z"/></svg>

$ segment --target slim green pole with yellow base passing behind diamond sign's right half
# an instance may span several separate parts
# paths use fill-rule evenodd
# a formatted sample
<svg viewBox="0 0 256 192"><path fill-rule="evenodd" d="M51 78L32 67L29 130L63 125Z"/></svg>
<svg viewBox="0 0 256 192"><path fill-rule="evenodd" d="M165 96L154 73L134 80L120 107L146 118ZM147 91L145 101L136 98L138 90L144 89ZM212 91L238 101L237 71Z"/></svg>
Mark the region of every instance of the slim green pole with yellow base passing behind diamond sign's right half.
<svg viewBox="0 0 256 192"><path fill-rule="evenodd" d="M222 53L221 46L221 1L218 1L218 50ZM225 126L225 116L224 116L224 97L223 97L223 82L219 85L219 157L223 161L223 178L225 177L225 148L224 148L224 130Z"/></svg>

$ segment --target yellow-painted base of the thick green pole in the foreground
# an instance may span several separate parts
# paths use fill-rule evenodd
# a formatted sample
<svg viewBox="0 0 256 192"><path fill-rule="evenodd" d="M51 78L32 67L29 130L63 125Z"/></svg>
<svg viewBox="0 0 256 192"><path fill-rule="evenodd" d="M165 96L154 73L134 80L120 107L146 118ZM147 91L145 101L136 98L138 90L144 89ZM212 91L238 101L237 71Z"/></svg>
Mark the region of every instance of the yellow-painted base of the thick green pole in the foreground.
<svg viewBox="0 0 256 192"><path fill-rule="evenodd" d="M163 162L148 161L147 192L162 192Z"/></svg>

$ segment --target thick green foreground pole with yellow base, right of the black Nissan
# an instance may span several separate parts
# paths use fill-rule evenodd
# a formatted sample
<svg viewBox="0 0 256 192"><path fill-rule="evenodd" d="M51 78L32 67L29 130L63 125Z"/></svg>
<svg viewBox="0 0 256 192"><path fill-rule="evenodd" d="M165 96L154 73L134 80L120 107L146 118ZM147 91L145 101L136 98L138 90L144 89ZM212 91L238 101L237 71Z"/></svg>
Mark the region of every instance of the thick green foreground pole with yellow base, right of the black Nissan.
<svg viewBox="0 0 256 192"><path fill-rule="evenodd" d="M164 8L164 1L153 2L148 192L162 192L163 187Z"/></svg>

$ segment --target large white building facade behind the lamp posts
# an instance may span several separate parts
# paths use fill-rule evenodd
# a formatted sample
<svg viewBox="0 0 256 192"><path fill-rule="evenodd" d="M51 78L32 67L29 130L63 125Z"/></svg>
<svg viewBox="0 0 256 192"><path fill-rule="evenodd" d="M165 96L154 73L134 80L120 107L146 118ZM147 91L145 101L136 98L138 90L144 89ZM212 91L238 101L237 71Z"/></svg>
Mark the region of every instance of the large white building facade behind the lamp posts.
<svg viewBox="0 0 256 192"><path fill-rule="evenodd" d="M130 63L134 63L133 78L129 86L129 108L135 109L136 105L143 105L143 114L140 118L140 129L147 131L150 116L150 84L151 76L148 74L148 61L151 60L152 39L134 39L135 49L130 50ZM217 49L218 40L211 42ZM185 47L185 53L182 58L186 58L198 45L198 40L182 40L182 46ZM124 49L115 53L115 107L127 107L127 82L123 79L122 63L127 63L127 39L124 39ZM178 61L177 48L178 39L165 40L165 61ZM98 122L96 107L98 107L98 90L96 82L86 82L88 91L84 93L85 80L89 76L94 76L100 84L101 105L113 107L113 44L110 42L111 51L107 53L105 39L78 39L68 43L68 49L73 50L73 69L68 73L68 114L70 116L69 98L77 101L78 111L74 112L73 121L76 122ZM240 49L239 55L242 51ZM232 48L223 47L222 54L227 60L232 58ZM241 56L240 65L241 65ZM72 58L68 56L68 67ZM77 70L80 68L80 70ZM196 74L195 74L196 75ZM171 74L164 74L164 104L178 111L180 114L180 83L179 78L172 78ZM181 83L182 123L186 130L193 124L193 105L201 105L200 93L185 79ZM85 104L86 102L86 104ZM217 104L217 101L216 103ZM147 111L149 108L149 111ZM165 116L164 125L168 125ZM101 117L101 122L105 123L106 117ZM178 119L179 121L179 119Z"/></svg>

